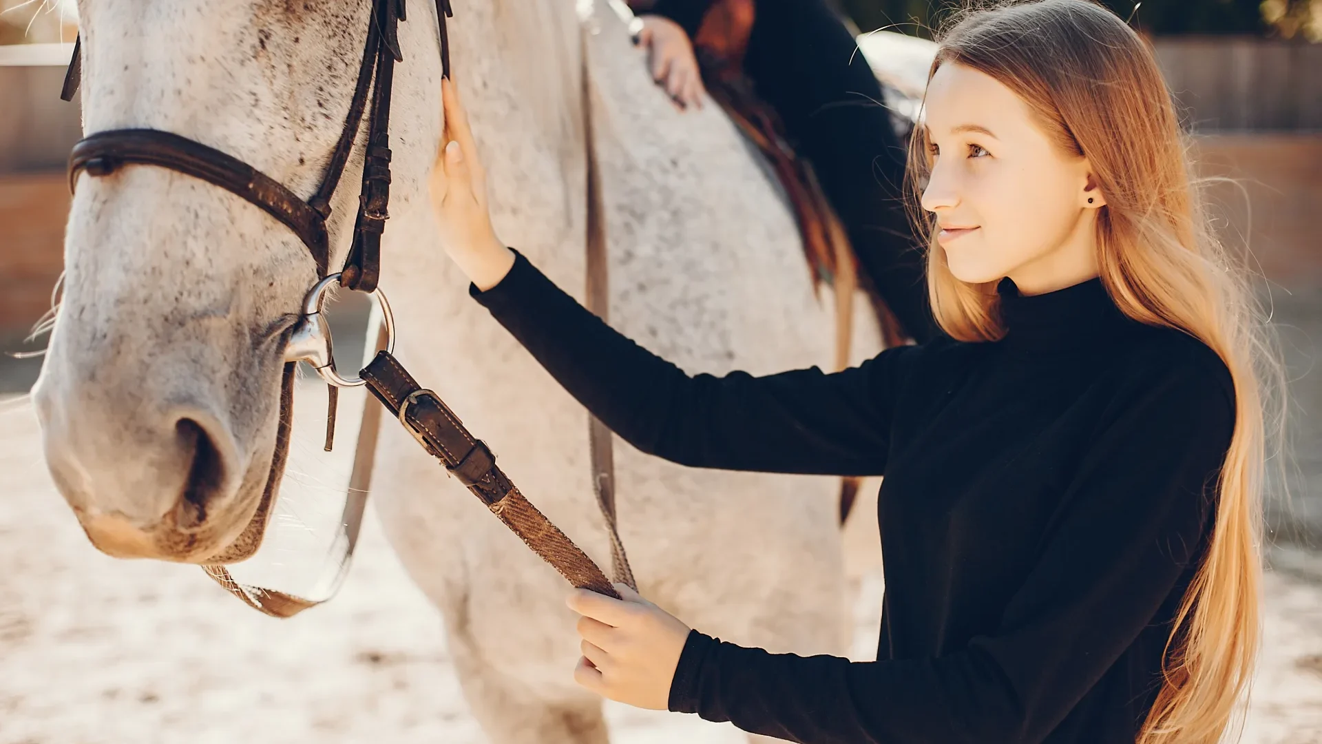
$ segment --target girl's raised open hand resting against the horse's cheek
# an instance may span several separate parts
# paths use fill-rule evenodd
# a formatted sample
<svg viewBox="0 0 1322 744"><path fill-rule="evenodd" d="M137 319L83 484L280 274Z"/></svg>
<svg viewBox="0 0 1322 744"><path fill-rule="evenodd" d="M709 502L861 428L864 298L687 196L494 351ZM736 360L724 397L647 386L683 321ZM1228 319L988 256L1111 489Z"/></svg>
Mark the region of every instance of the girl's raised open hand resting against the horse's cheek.
<svg viewBox="0 0 1322 744"><path fill-rule="evenodd" d="M477 159L468 114L455 81L440 83L446 128L431 169L431 207L446 253L486 291L514 266L514 252L496 237L486 207L486 172Z"/></svg>

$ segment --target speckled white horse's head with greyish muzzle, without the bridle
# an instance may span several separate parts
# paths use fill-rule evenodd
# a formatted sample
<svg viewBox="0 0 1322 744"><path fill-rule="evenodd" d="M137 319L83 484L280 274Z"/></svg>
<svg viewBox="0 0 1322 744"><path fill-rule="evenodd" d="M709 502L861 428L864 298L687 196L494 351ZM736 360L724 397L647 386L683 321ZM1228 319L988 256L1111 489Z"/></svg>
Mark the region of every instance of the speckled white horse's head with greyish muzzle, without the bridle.
<svg viewBox="0 0 1322 744"><path fill-rule="evenodd" d="M389 0L391 4L395 0ZM346 126L378 0L85 0L83 130L156 130L229 155L300 200ZM439 136L430 3L399 24L393 208L422 193ZM357 213L357 132L325 221ZM260 544L283 463L284 349L317 279L304 241L177 169L75 172L65 289L33 391L50 473L119 557L229 563Z"/></svg>

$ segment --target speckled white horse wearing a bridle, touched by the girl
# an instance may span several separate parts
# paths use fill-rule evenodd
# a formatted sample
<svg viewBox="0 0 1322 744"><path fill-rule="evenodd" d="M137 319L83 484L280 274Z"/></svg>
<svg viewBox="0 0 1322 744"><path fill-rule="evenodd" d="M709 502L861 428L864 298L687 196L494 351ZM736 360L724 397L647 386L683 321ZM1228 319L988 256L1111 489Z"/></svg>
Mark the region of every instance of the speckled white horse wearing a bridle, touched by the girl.
<svg viewBox="0 0 1322 744"><path fill-rule="evenodd" d="M453 4L453 70L510 245L582 297L590 111L612 324L690 372L830 363L830 299L814 298L791 212L714 106L676 113L604 8ZM79 11L86 132L175 132L312 193L349 106L368 0L83 0ZM442 128L432 13L414 1L399 29L381 282L397 355L608 565L584 410L467 297L436 244L426 193ZM350 237L361 143L333 201L332 266ZM316 278L304 246L223 189L126 167L82 179L66 271L34 400L50 471L89 537L124 557L249 552L276 446L284 331ZM687 470L623 442L616 474L645 596L739 643L845 650L836 482ZM579 651L563 581L389 421L373 492L444 617L489 737L605 741L600 700L570 674Z"/></svg>

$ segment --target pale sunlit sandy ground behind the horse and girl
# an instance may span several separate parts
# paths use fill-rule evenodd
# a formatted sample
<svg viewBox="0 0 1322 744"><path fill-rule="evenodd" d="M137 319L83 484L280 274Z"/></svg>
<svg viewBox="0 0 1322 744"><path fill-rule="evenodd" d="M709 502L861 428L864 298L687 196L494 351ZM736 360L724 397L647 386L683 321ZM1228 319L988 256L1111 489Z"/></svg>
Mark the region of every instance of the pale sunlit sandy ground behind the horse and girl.
<svg viewBox="0 0 1322 744"><path fill-rule="evenodd" d="M875 537L861 522L847 543L851 655L865 658L882 593ZM1268 575L1247 743L1322 744L1310 560ZM440 630L370 511L340 596L290 621L242 606L197 568L102 556L50 485L26 402L0 400L0 744L484 741ZM620 743L743 740L693 716L612 704L608 718Z"/></svg>

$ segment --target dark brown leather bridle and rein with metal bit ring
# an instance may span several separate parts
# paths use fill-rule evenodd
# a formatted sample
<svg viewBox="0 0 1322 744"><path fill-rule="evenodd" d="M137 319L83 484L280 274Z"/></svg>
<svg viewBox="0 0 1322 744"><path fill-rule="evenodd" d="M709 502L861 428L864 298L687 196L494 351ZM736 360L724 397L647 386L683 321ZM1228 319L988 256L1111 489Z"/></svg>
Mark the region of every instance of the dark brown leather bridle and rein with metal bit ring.
<svg viewBox="0 0 1322 744"><path fill-rule="evenodd" d="M449 77L451 73L446 21L452 15L449 0L436 0L442 71L446 77ZM77 187L81 173L107 176L130 164L168 168L218 185L279 220L299 236L316 262L319 282L308 293L301 319L292 330L286 347L280 428L266 494L246 534L255 530L259 535L270 515L271 502L276 495L275 491L284 467L284 453L288 447L293 367L297 361L307 361L329 385L330 410L327 421L325 445L328 451L332 447L334 434L336 392L341 387L366 385L428 454L440 461L451 475L457 478L492 514L516 532L533 552L550 563L570 584L619 597L602 569L518 491L496 465L496 458L486 445L475 438L449 406L436 393L422 388L393 356L394 320L390 306L377 283L381 267L381 236L389 218L390 203L390 94L394 82L394 64L403 61L397 32L399 21L405 20L405 0L371 0L366 48L344 131L330 155L330 163L320 187L307 201L279 181L225 152L177 134L147 128L97 132L75 144L69 158L70 191ZM81 56L82 40L79 38L74 45L73 60L65 77L61 94L65 101L71 101L78 90L82 75ZM368 110L369 91L370 111ZM368 114L368 143L353 246L344 267L336 274L328 274L330 242L327 234L327 220L330 216L330 199L349 160L365 113ZM590 158L590 168L592 167ZM370 293L377 297L385 319L385 326L381 330L382 338L378 338L377 343L377 347L385 346L385 348L377 352L358 377L340 376L330 356L330 335L321 315L321 302L325 291L336 283L344 289ZM344 580L357 543L366 499L366 485L371 475L378 418L379 409L369 405L364 410L354 471L350 477L350 492L342 519L346 551L340 573L327 598L334 594ZM600 488L600 485L598 487ZM620 571L619 561L623 559L623 547L619 545L615 530L613 498L609 500L612 502L609 512L605 511L604 503L602 506L611 530L616 573L625 577L625 582L632 585L628 564L624 564L623 573ZM246 555L230 556L226 553L222 556L226 560L246 557ZM204 565L202 568L249 606L272 617L291 617L327 600L307 600L283 592L242 585L230 577L229 571L222 564Z"/></svg>

